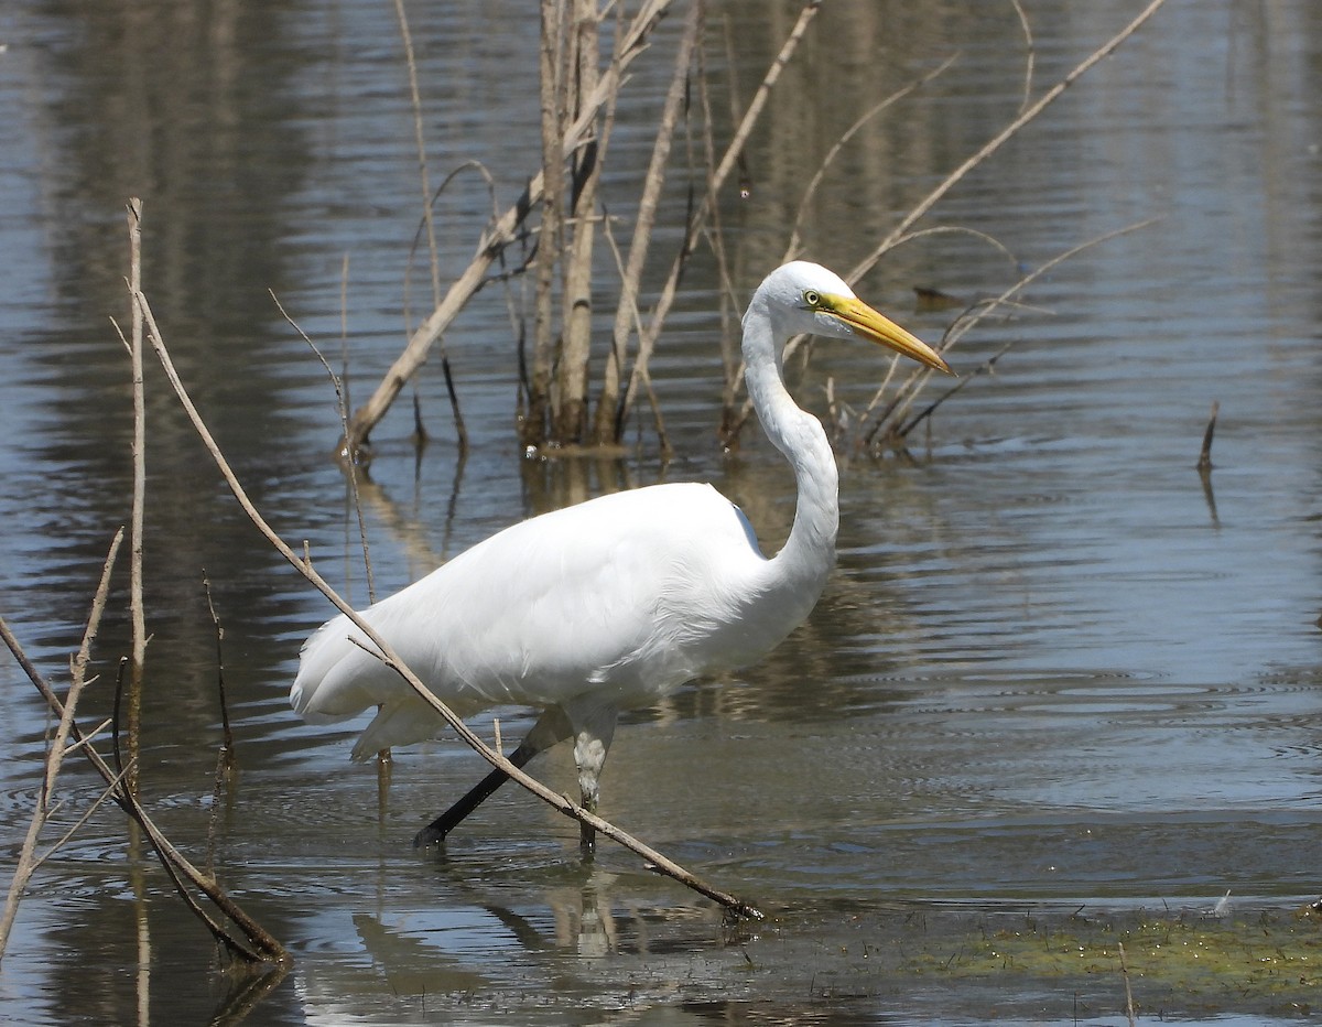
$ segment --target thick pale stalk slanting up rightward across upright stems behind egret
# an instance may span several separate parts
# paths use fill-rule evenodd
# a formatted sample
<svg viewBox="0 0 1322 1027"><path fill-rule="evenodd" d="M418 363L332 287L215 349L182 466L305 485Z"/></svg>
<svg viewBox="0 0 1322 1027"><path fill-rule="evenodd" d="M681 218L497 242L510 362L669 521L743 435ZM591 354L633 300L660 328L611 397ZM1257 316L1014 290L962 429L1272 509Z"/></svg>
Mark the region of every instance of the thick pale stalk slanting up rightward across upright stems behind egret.
<svg viewBox="0 0 1322 1027"><path fill-rule="evenodd" d="M570 156L596 122L596 115L607 98L619 87L628 66L646 49L652 29L670 7L670 0L646 0L633 16L620 41L615 59L602 75L596 89L586 98L583 110L570 126L564 136L564 155ZM375 427L390 408L405 383L414 375L427 358L427 353L440 334L451 325L469 299L486 284L486 274L504 248L518 237L520 226L527 214L541 202L543 177L533 176L518 201L505 210L483 234L477 254L463 274L451 283L440 303L431 315L408 337L408 345L386 371L368 402L349 420L349 431L341 440L341 456L353 456L362 447L371 428Z"/></svg>

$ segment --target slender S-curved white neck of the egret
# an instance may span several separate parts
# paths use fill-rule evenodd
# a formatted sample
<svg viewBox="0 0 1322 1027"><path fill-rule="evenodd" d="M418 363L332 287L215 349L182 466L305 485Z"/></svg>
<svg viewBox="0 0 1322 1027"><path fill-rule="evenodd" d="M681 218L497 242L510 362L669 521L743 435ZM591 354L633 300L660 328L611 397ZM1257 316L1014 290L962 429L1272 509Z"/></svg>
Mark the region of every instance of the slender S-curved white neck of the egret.
<svg viewBox="0 0 1322 1027"><path fill-rule="evenodd" d="M744 383L763 430L793 467L798 489L795 526L772 564L780 582L804 590L812 608L836 562L839 529L836 455L821 422L800 410L785 389L780 362L784 336L767 304L759 300L754 299L744 316Z"/></svg>

